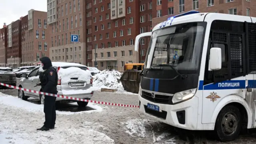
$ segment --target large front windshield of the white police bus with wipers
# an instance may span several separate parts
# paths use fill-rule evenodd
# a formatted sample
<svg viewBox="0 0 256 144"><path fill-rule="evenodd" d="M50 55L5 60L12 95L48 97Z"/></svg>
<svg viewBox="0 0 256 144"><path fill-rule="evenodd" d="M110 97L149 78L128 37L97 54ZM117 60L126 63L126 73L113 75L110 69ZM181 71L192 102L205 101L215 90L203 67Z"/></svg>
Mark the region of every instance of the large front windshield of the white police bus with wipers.
<svg viewBox="0 0 256 144"><path fill-rule="evenodd" d="M154 31L147 68L175 68L185 74L198 71L205 26L205 22L190 22Z"/></svg>

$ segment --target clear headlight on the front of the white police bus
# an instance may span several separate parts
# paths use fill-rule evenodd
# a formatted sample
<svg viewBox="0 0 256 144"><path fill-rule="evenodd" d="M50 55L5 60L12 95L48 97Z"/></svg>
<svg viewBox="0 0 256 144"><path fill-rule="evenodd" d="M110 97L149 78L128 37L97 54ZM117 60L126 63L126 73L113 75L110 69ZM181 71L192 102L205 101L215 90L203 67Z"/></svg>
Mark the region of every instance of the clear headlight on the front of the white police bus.
<svg viewBox="0 0 256 144"><path fill-rule="evenodd" d="M175 104L177 102L182 102L192 98L196 93L197 88L193 88L190 90L184 90L182 92L177 92L173 95L172 103Z"/></svg>

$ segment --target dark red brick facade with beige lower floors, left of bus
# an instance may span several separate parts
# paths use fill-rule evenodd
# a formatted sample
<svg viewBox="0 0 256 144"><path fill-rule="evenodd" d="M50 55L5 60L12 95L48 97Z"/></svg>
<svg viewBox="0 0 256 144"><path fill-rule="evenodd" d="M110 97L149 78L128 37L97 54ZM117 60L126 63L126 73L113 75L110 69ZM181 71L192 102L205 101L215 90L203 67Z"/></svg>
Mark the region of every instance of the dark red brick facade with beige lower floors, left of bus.
<svg viewBox="0 0 256 144"><path fill-rule="evenodd" d="M150 31L152 0L86 2L87 66L124 70L125 63L144 62L148 39L141 40L140 52L134 51L134 42Z"/></svg>

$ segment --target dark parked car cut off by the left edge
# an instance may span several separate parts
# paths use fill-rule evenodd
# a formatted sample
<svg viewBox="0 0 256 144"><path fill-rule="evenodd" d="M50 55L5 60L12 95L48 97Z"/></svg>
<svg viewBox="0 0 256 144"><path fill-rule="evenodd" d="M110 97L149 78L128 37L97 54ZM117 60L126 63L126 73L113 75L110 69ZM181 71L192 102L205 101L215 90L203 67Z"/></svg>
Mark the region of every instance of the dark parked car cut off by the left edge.
<svg viewBox="0 0 256 144"><path fill-rule="evenodd" d="M0 82L16 86L16 76L12 68L0 67ZM0 86L2 88L2 86Z"/></svg>

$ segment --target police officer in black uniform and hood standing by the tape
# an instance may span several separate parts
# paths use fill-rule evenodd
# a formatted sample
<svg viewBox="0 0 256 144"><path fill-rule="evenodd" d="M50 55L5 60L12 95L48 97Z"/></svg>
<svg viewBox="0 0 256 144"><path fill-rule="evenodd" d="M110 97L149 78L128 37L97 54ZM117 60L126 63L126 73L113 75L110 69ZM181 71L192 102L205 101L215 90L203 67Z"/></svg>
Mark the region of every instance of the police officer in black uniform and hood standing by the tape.
<svg viewBox="0 0 256 144"><path fill-rule="evenodd" d="M39 76L40 83L36 86L41 86L43 92L57 94L58 74L56 68L52 66L52 62L48 57L40 58L40 61L44 71L41 72ZM38 128L37 130L47 131L54 129L56 120L55 101L56 97L54 96L44 96L45 122L44 126L42 126L42 128Z"/></svg>

